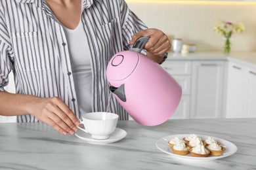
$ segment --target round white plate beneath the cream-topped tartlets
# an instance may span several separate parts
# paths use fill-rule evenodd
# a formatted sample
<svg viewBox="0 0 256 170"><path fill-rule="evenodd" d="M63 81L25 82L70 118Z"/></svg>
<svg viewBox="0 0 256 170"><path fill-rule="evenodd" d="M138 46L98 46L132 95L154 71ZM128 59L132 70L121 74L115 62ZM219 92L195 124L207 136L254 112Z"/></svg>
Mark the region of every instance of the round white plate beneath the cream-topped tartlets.
<svg viewBox="0 0 256 170"><path fill-rule="evenodd" d="M179 135L170 135L167 137L162 137L161 139L158 139L158 141L156 142L156 147L158 149L160 149L162 152L165 152L166 154L173 156L174 158L181 158L181 159L186 159L186 160L196 160L196 161L210 161L210 160L221 159L226 156L230 156L230 155L234 154L236 152L236 150L238 149L235 144L230 143L229 141L226 141L224 139L220 139L217 137L213 137L213 139L215 139L216 141L219 141L221 143L221 146L226 148L226 150L224 151L224 153L221 156L193 157L190 154L187 154L185 156L173 154L173 152L171 151L171 149L169 147L168 141L170 141L171 139L173 139L175 137L179 137L179 138L183 139L184 137L187 137L188 135L190 135L190 134L179 134ZM205 140L209 137L209 136L205 136L205 135L197 135L197 136L200 137L202 140Z"/></svg>

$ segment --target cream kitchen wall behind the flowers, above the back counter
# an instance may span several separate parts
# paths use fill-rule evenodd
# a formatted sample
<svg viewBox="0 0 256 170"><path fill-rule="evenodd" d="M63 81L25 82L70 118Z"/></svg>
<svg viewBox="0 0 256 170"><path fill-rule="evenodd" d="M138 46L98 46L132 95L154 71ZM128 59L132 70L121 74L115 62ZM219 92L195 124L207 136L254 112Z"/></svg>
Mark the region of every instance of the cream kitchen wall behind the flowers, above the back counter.
<svg viewBox="0 0 256 170"><path fill-rule="evenodd" d="M232 35L231 50L256 51L256 2L126 2L148 27L159 28L168 35L183 39L184 43L195 43L198 51L223 50L221 35L213 31L218 20L243 22L245 31Z"/></svg>

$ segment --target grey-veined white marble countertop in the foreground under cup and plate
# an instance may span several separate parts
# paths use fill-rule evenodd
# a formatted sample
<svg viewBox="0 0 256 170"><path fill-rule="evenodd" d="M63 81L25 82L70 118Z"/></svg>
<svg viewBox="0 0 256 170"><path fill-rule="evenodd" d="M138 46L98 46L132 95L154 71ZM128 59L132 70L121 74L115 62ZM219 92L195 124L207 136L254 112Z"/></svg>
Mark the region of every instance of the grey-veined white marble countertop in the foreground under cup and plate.
<svg viewBox="0 0 256 170"><path fill-rule="evenodd" d="M0 124L0 169L255 169L256 118L168 120L154 127L119 121L125 139L90 144L60 135L42 123ZM196 133L230 141L232 156L213 161L180 160L161 152L158 139Z"/></svg>

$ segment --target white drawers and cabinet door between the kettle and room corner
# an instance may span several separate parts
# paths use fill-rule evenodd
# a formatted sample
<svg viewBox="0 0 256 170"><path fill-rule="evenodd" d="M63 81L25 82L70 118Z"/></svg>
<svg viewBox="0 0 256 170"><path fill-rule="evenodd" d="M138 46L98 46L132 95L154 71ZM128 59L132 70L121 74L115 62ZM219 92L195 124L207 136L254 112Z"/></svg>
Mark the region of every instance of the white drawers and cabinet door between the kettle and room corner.
<svg viewBox="0 0 256 170"><path fill-rule="evenodd" d="M224 60L167 60L165 68L182 86L182 99L171 118L223 116Z"/></svg>

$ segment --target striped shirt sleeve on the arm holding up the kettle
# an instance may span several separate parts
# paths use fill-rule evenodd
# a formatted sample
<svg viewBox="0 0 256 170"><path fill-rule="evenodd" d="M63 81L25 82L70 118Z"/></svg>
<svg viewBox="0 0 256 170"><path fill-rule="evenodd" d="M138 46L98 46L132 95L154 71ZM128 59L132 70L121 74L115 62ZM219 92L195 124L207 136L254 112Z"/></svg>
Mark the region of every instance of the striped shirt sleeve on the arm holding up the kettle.
<svg viewBox="0 0 256 170"><path fill-rule="evenodd" d="M133 35L135 35L135 33L138 33L140 30L147 29L148 27L138 18L135 13L133 13L129 9L125 1L122 1L121 9L121 19L123 21L123 46L124 50L129 50L129 42L131 41L131 37L133 37Z"/></svg>

